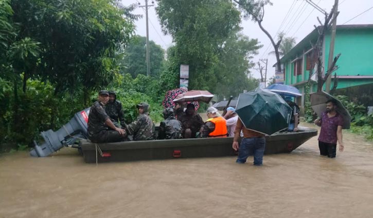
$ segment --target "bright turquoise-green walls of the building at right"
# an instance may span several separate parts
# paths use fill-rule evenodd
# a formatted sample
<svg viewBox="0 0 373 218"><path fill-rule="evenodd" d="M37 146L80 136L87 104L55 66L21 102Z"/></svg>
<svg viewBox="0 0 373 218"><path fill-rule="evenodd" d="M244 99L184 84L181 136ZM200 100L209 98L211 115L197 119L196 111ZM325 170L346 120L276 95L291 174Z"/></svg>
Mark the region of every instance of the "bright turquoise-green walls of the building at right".
<svg viewBox="0 0 373 218"><path fill-rule="evenodd" d="M328 66L330 34L325 36L324 42L324 64L325 66ZM308 80L310 71L306 70L307 55L305 55L304 53L310 48L311 46L305 48L303 50L303 54L302 52L299 52L292 57L293 60L296 57L303 57L304 69L301 75L294 76L294 63L291 63L292 60L286 61L286 85L294 85L296 83ZM373 29L337 30L335 36L334 56L338 53L341 53L341 56L336 64L339 66L339 69L335 71L337 75L373 75ZM373 79L340 79L338 83L338 89L370 83L373 83ZM333 82L331 84L331 87L332 86ZM311 92L315 91L317 91L316 85L314 85L311 89Z"/></svg>

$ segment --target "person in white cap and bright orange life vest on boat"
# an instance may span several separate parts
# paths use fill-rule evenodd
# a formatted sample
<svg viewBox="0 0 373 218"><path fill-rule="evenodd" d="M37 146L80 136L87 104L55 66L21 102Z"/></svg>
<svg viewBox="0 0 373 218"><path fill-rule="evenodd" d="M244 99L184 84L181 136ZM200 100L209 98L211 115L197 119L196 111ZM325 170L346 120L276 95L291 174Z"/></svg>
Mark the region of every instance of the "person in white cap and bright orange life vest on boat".
<svg viewBox="0 0 373 218"><path fill-rule="evenodd" d="M228 131L225 119L220 116L218 109L209 107L207 109L208 120L202 131L202 137L227 137Z"/></svg>

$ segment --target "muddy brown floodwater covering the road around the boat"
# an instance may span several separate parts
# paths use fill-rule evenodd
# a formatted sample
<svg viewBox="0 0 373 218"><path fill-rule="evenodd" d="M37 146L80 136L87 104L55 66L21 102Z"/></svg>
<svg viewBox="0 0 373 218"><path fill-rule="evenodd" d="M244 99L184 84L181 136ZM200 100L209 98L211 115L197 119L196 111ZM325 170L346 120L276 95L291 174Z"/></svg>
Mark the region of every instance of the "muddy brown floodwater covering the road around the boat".
<svg viewBox="0 0 373 218"><path fill-rule="evenodd" d="M371 217L373 145L344 134L337 158L314 137L264 166L234 157L85 164L76 150L0 156L0 217Z"/></svg>

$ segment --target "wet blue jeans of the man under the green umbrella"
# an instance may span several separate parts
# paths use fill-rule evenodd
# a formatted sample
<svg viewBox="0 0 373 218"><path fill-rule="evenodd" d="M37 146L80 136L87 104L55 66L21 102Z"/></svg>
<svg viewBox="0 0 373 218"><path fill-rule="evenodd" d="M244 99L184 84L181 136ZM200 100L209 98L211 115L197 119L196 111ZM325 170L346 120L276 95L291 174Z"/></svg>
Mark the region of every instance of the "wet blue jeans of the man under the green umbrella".
<svg viewBox="0 0 373 218"><path fill-rule="evenodd" d="M254 165L262 165L264 148L265 137L242 138L236 163L243 164L248 156L254 155Z"/></svg>

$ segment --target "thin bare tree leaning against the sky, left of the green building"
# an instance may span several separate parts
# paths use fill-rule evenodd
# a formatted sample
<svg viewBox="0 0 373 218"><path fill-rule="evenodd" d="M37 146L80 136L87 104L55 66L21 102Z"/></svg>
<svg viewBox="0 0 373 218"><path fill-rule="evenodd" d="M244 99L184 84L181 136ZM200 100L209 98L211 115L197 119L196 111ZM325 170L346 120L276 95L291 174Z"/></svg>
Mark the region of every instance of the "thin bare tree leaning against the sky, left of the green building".
<svg viewBox="0 0 373 218"><path fill-rule="evenodd" d="M269 0L233 0L235 3L238 4L239 8L244 12L244 17L251 18L254 22L257 22L259 28L270 38L270 41L275 49L276 55L276 68L278 71L281 70L281 62L280 62L280 54L279 54L279 46L281 43L281 39L275 43L271 34L264 29L262 22L264 17L264 6L265 5L272 5Z"/></svg>

